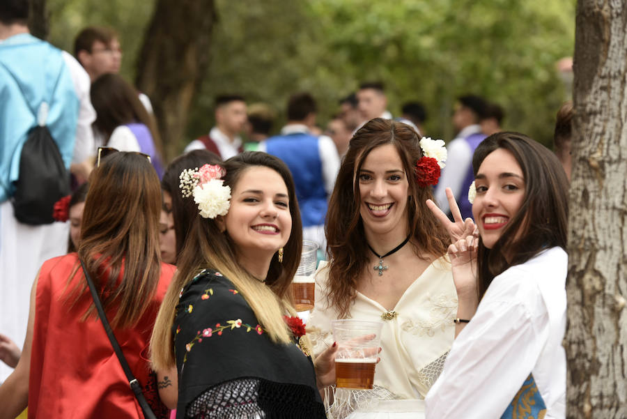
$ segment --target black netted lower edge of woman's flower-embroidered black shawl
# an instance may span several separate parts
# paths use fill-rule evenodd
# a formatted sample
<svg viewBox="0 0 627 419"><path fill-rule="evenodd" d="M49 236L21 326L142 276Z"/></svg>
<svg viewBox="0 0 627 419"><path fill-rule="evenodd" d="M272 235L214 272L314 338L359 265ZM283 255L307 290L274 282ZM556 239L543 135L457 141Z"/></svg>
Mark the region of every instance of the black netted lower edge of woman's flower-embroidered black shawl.
<svg viewBox="0 0 627 419"><path fill-rule="evenodd" d="M309 386L245 378L219 384L187 405L186 419L326 418Z"/></svg>

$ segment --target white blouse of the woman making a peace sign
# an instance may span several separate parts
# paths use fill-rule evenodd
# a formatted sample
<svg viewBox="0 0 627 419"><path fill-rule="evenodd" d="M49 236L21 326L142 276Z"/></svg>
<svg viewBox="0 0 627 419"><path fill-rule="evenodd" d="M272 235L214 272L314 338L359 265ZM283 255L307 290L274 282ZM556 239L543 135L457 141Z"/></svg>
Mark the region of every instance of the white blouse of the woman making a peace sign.
<svg viewBox="0 0 627 419"><path fill-rule="evenodd" d="M494 278L429 390L427 419L500 418L530 373L545 418L565 418L567 270L552 247Z"/></svg>

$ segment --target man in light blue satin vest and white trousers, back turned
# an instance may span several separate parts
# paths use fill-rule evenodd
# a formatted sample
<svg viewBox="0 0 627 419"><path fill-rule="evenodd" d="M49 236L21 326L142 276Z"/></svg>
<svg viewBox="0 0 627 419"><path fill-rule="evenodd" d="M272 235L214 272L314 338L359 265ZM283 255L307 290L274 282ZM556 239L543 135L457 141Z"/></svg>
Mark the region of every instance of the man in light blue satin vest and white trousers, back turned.
<svg viewBox="0 0 627 419"><path fill-rule="evenodd" d="M20 173L20 155L36 114L45 120L70 168L75 146L93 148L89 77L80 64L31 36L27 0L0 1L0 333L21 346L26 335L29 293L42 262L65 253L68 225L31 226L13 215L10 197ZM10 370L0 363L0 383Z"/></svg>

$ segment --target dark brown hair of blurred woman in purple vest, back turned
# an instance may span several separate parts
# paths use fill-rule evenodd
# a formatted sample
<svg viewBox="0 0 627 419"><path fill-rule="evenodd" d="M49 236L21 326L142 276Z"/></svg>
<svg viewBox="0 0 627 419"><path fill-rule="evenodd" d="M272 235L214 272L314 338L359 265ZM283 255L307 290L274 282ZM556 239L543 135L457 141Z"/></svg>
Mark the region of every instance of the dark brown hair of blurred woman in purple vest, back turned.
<svg viewBox="0 0 627 419"><path fill-rule="evenodd" d="M150 130L155 148L163 155L155 117L148 113L138 94L121 75L107 73L95 79L90 90L91 104L96 112L93 126L109 142L109 137L118 126L125 123L143 123Z"/></svg>

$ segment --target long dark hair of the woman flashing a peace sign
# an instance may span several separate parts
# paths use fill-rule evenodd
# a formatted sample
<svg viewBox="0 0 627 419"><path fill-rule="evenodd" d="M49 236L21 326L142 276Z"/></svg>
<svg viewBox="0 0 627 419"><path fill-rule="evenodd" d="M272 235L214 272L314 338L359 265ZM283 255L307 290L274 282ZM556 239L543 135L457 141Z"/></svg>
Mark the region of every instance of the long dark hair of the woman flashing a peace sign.
<svg viewBox="0 0 627 419"><path fill-rule="evenodd" d="M524 134L497 132L484 139L474 151L474 176L483 159L497 148L512 153L520 165L525 178L525 199L492 249L479 239L479 298L494 277L510 266L524 264L549 247L566 250L568 234L568 178L555 154Z"/></svg>

